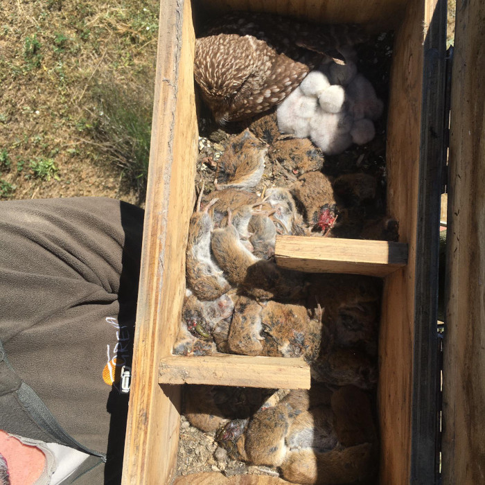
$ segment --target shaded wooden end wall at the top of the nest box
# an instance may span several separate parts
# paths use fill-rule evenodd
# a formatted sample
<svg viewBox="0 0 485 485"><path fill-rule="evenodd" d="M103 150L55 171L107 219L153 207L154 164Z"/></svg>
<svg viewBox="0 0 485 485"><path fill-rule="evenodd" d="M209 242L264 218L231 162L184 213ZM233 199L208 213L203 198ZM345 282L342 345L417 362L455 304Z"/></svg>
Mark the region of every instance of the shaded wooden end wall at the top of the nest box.
<svg viewBox="0 0 485 485"><path fill-rule="evenodd" d="M394 28L403 18L407 0L195 0L199 10L274 12L312 22L353 23L373 30Z"/></svg>

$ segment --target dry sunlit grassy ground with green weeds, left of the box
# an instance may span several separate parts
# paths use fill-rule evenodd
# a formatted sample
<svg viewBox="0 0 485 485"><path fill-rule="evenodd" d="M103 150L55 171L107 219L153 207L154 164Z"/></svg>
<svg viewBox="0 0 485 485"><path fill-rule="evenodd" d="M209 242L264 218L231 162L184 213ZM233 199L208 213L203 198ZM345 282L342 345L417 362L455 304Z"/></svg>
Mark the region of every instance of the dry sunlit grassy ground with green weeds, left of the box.
<svg viewBox="0 0 485 485"><path fill-rule="evenodd" d="M159 0L1 1L0 199L143 206L158 16Z"/></svg>

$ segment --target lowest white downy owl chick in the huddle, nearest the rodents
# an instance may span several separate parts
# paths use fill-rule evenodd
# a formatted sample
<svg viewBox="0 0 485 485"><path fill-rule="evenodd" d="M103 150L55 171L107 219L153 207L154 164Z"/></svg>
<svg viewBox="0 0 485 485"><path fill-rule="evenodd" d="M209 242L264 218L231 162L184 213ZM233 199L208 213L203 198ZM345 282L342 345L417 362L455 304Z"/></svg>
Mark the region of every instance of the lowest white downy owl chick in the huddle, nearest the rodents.
<svg viewBox="0 0 485 485"><path fill-rule="evenodd" d="M347 113L326 113L319 109L310 121L310 138L326 155L338 155L352 144L353 118Z"/></svg>

